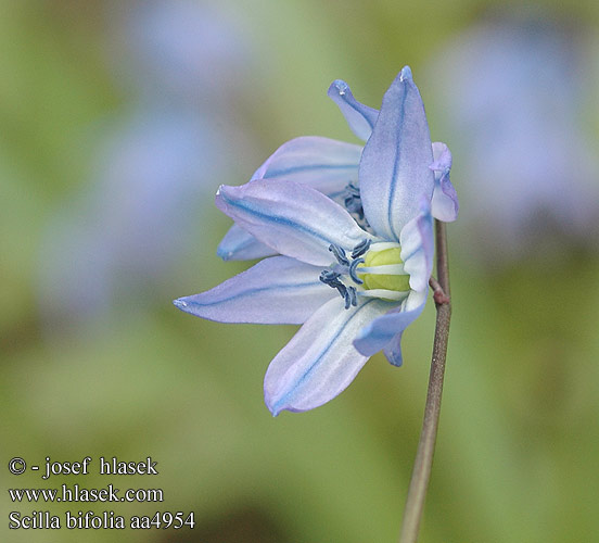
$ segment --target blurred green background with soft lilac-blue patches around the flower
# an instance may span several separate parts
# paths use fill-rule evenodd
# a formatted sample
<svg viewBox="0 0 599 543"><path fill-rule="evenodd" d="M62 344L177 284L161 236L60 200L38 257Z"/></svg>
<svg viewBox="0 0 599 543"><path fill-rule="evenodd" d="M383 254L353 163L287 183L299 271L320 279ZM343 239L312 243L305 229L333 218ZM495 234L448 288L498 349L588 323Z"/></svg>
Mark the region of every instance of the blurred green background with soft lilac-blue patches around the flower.
<svg viewBox="0 0 599 543"><path fill-rule="evenodd" d="M395 541L434 307L405 366L272 418L293 327L171 300L241 272L220 184L301 135L355 141L335 78L380 106L412 67L454 152L454 320L420 541L599 533L599 4L397 0L0 1L2 541ZM156 477L9 473L152 456ZM162 504L20 504L9 488L161 488ZM193 530L9 530L8 514L194 512Z"/></svg>

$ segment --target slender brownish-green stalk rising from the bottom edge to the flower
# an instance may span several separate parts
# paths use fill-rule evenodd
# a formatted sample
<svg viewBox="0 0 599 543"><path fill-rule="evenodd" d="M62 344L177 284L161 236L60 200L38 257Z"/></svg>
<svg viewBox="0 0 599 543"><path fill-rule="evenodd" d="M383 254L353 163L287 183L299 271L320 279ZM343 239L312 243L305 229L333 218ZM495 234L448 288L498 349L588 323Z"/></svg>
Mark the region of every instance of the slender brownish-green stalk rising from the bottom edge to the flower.
<svg viewBox="0 0 599 543"><path fill-rule="evenodd" d="M446 225L441 220L435 220L435 248L437 280L432 279L430 282L436 307L433 356L431 361L431 374L429 376L426 404L424 406L424 420L422 422L422 432L420 433L420 442L418 443L408 497L406 500L399 543L416 543L418 539L420 520L424 510L424 501L431 478L438 417L441 414L441 396L445 375L447 342L449 339L449 321L451 318L447 235Z"/></svg>

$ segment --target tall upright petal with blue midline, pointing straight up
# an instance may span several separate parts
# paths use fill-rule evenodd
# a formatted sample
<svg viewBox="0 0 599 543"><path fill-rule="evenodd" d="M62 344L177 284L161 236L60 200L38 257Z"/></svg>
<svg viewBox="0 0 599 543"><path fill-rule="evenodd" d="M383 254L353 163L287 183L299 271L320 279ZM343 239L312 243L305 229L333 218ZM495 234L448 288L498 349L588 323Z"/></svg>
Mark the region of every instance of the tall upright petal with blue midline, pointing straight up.
<svg viewBox="0 0 599 543"><path fill-rule="evenodd" d="M360 197L368 223L388 240L419 212L422 195L433 195L433 150L424 105L409 67L395 78L362 153Z"/></svg>

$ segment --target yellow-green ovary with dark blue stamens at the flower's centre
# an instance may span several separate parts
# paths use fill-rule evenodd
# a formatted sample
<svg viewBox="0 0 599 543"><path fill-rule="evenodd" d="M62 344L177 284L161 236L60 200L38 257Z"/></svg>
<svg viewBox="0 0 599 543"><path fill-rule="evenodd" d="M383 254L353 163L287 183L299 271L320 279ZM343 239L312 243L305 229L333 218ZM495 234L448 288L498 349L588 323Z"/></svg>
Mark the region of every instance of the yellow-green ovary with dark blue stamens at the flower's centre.
<svg viewBox="0 0 599 543"><path fill-rule="evenodd" d="M349 255L337 245L331 245L329 250L339 264L322 270L320 280L339 291L346 310L357 305L358 296L399 302L409 294L410 277L404 270L399 243L371 243L365 239ZM357 287L347 286L348 280Z"/></svg>

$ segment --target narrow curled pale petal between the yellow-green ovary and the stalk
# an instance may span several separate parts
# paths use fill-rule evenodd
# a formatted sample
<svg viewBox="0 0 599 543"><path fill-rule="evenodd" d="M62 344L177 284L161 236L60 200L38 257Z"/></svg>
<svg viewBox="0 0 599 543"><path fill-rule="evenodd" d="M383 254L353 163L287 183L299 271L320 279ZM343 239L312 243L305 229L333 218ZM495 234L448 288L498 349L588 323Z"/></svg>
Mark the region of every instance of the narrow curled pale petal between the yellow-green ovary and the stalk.
<svg viewBox="0 0 599 543"><path fill-rule="evenodd" d="M399 236L404 269L410 276L410 288L426 291L433 272L433 217L431 204L425 198L420 201L420 213L403 229Z"/></svg>

